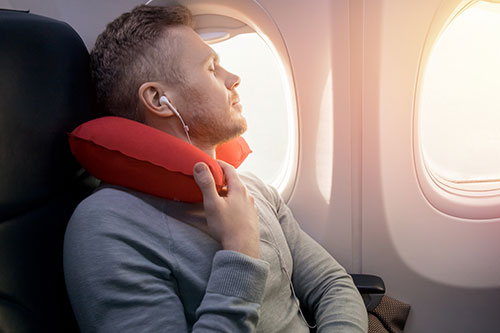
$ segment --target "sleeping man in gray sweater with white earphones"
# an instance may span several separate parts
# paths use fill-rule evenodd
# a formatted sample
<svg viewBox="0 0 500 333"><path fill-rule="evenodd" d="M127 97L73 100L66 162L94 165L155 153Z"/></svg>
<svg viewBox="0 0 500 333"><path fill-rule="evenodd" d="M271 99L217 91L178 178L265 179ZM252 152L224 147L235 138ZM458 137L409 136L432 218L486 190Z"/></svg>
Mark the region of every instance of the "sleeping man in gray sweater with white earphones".
<svg viewBox="0 0 500 333"><path fill-rule="evenodd" d="M246 130L239 77L219 64L184 7L123 14L98 37L91 61L98 100L111 114L212 157ZM223 196L207 166L194 166L203 205L104 185L78 206L64 269L81 330L309 332L300 301L319 332L366 332L351 278L300 229L276 190L220 165Z"/></svg>

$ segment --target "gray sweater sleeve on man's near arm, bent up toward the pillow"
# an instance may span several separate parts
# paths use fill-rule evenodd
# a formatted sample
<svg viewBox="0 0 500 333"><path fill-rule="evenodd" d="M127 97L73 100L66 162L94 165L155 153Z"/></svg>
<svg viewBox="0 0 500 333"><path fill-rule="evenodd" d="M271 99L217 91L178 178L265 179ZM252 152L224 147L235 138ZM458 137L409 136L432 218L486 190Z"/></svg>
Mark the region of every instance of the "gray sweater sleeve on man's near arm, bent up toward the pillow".
<svg viewBox="0 0 500 333"><path fill-rule="evenodd" d="M127 200L123 200L127 201ZM122 201L122 202L123 202ZM213 257L192 327L186 321L169 258L165 221L141 224L130 202L84 202L64 242L69 298L82 332L254 331L269 267L232 251Z"/></svg>

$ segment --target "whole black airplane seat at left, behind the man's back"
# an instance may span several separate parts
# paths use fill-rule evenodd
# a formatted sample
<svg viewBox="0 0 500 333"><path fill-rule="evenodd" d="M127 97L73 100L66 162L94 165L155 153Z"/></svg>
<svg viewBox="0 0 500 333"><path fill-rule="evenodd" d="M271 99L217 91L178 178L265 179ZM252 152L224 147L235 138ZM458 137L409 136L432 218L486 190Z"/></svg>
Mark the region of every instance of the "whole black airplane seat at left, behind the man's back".
<svg viewBox="0 0 500 333"><path fill-rule="evenodd" d="M78 332L63 238L96 184L67 132L90 119L87 49L66 23L0 10L0 332Z"/></svg>

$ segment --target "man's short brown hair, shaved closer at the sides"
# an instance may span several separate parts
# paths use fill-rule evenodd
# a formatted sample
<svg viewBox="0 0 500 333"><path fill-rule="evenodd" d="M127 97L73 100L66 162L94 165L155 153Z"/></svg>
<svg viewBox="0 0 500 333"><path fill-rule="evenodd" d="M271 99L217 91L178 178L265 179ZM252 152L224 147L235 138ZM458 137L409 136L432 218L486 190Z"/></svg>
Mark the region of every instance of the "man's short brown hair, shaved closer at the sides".
<svg viewBox="0 0 500 333"><path fill-rule="evenodd" d="M168 47L158 45L168 36L167 27L192 27L192 15L183 6L140 5L106 26L90 54L92 78L101 113L144 122L137 92L148 81L182 82L175 67L174 39Z"/></svg>

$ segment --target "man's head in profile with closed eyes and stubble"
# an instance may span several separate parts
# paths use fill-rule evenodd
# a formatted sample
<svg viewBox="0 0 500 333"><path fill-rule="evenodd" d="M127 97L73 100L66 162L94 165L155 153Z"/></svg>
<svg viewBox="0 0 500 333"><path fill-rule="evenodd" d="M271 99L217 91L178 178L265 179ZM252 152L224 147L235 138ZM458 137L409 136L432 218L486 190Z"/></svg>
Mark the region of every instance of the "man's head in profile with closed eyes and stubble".
<svg viewBox="0 0 500 333"><path fill-rule="evenodd" d="M192 29L182 6L138 6L109 23L91 52L99 104L113 115L185 138L166 96L190 128L193 143L217 145L246 130L234 88L215 52Z"/></svg>

